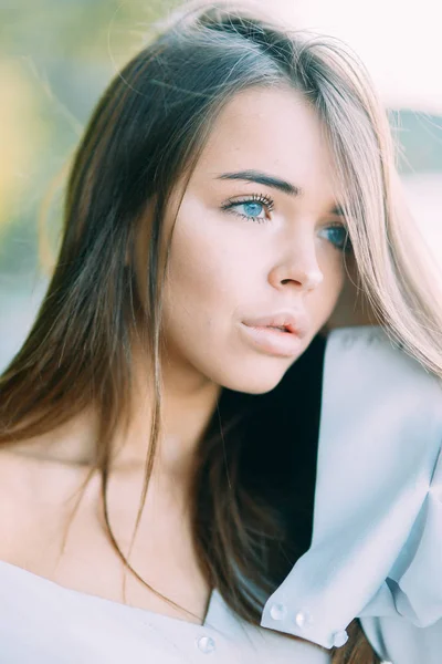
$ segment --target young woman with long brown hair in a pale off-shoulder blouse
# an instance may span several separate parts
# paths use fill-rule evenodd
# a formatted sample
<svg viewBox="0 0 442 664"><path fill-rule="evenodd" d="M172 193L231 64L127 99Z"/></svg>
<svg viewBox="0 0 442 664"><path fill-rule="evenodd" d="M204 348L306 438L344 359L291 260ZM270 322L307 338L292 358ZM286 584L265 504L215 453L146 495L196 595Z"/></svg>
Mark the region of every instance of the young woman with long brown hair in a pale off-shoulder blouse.
<svg viewBox="0 0 442 664"><path fill-rule="evenodd" d="M115 76L0 384L2 664L439 662L442 315L393 162L354 56L257 10Z"/></svg>

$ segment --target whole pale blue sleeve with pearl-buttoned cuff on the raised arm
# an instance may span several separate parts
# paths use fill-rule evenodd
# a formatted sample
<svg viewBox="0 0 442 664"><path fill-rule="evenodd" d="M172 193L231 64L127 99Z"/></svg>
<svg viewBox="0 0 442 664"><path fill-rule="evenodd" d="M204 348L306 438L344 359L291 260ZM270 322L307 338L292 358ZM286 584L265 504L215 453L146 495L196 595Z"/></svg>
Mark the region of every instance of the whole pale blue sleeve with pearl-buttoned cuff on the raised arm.
<svg viewBox="0 0 442 664"><path fill-rule="evenodd" d="M329 334L312 543L262 626L329 649L359 618L381 657L440 664L441 439L436 376L381 328Z"/></svg>

